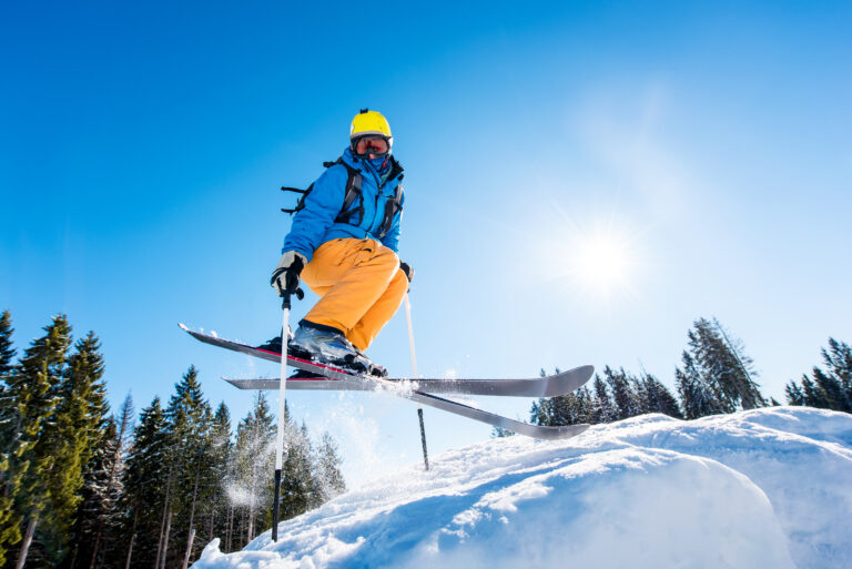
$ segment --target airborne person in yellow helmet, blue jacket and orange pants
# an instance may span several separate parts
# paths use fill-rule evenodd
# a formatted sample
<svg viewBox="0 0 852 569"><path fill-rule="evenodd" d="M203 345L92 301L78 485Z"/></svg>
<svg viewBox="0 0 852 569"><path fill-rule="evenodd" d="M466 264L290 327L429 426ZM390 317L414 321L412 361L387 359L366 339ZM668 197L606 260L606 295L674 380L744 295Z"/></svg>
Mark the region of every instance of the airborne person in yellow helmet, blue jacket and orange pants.
<svg viewBox="0 0 852 569"><path fill-rule="evenodd" d="M312 184L294 211L272 273L280 295L301 296L300 282L320 301L288 342L296 357L386 375L364 350L396 313L414 271L397 256L403 167L392 154L387 120L362 110L349 145ZM281 347L274 338L262 347Z"/></svg>

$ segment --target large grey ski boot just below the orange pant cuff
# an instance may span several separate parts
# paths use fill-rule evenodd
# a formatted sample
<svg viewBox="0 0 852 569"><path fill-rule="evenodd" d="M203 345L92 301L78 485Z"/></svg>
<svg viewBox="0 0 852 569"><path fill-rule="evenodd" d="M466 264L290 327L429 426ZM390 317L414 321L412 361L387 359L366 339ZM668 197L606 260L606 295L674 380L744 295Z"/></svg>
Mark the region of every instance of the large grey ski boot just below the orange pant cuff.
<svg viewBox="0 0 852 569"><path fill-rule="evenodd" d="M346 339L342 332L331 326L300 324L296 334L287 343L287 353L320 364L341 367L356 374L369 374L373 363Z"/></svg>

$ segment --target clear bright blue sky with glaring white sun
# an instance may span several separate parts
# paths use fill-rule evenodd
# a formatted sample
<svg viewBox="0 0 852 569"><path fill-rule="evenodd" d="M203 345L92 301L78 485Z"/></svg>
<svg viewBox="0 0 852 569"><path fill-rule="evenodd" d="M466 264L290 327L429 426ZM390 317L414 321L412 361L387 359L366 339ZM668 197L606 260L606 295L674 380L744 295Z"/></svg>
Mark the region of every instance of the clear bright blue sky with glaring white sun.
<svg viewBox="0 0 852 569"><path fill-rule="evenodd" d="M316 177L364 106L407 171L424 375L594 364L671 386L692 321L716 316L781 399L829 336L852 341L849 3L287 4L0 7L0 308L19 346L67 313L100 335L113 403L168 397L194 364L236 421L251 395L219 376L276 367L176 323L274 334L277 187ZM409 372L403 311L371 355ZM418 459L409 403L288 400L342 441L351 480ZM489 434L426 419L433 453Z"/></svg>

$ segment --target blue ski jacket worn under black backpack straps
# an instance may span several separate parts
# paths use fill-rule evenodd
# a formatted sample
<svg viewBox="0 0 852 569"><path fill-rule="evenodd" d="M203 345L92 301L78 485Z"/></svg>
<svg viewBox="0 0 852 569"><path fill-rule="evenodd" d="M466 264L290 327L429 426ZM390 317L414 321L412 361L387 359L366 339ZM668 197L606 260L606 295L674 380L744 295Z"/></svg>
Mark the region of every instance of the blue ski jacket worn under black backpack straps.
<svg viewBox="0 0 852 569"><path fill-rule="evenodd" d="M314 187L305 199L305 209L293 216L290 233L284 237L285 251L296 251L305 255L310 262L314 251L323 243L336 238L373 238L381 242L394 252L399 246L399 222L403 216L402 207L394 215L390 228L384 236L377 235L385 219L385 204L396 195L396 187L402 182L403 167L392 156L389 171L382 175L366 160L356 158L351 149L343 153L343 161L351 167L358 170L362 175L362 195L364 215L355 212L347 223L335 223L335 219L343 209L346 193L348 172L343 164L328 167L321 175ZM357 200L355 204L357 204ZM405 203L405 194L400 205Z"/></svg>

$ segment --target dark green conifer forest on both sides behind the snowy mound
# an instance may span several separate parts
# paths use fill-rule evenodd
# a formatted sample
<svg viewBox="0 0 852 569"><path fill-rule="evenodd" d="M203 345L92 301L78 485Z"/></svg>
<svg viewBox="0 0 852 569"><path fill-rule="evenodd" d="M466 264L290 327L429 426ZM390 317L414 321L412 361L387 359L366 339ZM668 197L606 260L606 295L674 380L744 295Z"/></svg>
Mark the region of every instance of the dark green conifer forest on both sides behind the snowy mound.
<svg viewBox="0 0 852 569"><path fill-rule="evenodd" d="M186 568L213 538L239 550L272 524L276 418L263 392L243 418L211 406L195 367L136 410L110 408L98 336L74 338L64 315L16 346L0 316L0 568ZM541 370L542 375L545 370ZM604 367L570 395L539 399L539 425L610 423L647 413L694 419L769 405L741 341L716 319L687 333L674 392L642 369ZM788 405L852 411L852 348L829 338ZM282 519L345 491L328 433L287 411ZM495 429L495 436L510 433Z"/></svg>

